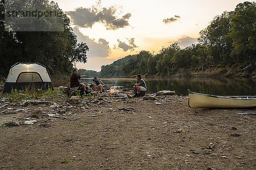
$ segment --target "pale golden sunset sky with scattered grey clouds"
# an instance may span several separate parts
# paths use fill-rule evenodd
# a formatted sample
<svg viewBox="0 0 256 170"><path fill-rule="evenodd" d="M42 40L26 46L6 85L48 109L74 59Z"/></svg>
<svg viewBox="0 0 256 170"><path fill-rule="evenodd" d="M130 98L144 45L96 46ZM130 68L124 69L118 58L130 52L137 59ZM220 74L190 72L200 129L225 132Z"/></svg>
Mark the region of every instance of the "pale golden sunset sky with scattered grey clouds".
<svg viewBox="0 0 256 170"><path fill-rule="evenodd" d="M100 71L140 51L159 53L177 42L197 43L199 31L244 0L53 0L68 15L78 42L89 46L87 63L77 68ZM252 2L253 0L247 0Z"/></svg>

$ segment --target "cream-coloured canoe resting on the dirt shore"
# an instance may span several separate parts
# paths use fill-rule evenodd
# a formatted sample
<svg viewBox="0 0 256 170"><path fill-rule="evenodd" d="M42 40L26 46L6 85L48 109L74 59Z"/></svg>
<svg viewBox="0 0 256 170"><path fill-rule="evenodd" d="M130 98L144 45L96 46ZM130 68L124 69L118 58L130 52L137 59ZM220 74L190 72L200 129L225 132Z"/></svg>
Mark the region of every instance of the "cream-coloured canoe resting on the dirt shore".
<svg viewBox="0 0 256 170"><path fill-rule="evenodd" d="M214 96L189 92L189 108L252 108L256 96Z"/></svg>

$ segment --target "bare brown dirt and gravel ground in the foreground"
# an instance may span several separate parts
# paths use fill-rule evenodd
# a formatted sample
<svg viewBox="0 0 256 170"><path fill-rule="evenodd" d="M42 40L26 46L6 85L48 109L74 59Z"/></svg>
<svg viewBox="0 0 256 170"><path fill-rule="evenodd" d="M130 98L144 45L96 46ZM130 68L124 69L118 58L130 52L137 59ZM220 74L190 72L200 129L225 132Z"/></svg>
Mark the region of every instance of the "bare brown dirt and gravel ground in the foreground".
<svg viewBox="0 0 256 170"><path fill-rule="evenodd" d="M1 126L0 168L256 168L256 115L236 114L256 113L256 108L192 109L187 96L177 95L157 97L157 104L142 98L103 101L110 102L62 103L55 110L47 105L9 105L39 108L43 118L34 125ZM22 111L6 114L4 109L0 109L2 122L29 117Z"/></svg>

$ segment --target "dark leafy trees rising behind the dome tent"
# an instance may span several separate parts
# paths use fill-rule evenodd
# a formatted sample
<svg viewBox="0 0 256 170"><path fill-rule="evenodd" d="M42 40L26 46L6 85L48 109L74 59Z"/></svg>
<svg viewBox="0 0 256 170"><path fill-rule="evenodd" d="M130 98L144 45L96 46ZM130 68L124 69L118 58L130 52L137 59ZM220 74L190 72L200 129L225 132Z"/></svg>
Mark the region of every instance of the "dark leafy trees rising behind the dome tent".
<svg viewBox="0 0 256 170"><path fill-rule="evenodd" d="M49 0L9 1L12 6L22 6L23 11L58 11L63 25L54 24L55 18L47 20L45 16L32 18L30 23L45 30L63 27L63 31L37 31L29 27L29 31L5 31L5 2L0 0L0 77L7 77L9 69L17 62L39 62L46 66L51 75L70 75L73 62L87 62L85 43L78 43L77 37L70 26L70 19ZM17 4L15 4L17 3ZM14 23L22 16L15 16ZM12 24L12 23L9 23Z"/></svg>

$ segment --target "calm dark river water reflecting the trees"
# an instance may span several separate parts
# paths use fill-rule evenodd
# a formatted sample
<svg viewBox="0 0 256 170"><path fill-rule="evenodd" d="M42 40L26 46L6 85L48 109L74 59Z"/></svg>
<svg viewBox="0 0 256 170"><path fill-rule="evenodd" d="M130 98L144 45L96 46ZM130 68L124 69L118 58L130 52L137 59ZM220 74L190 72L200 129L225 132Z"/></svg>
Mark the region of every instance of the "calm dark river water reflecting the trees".
<svg viewBox="0 0 256 170"><path fill-rule="evenodd" d="M136 83L136 78L111 78L101 79L107 85L124 86L131 90ZM144 79L147 93L162 90L175 91L177 95L188 95L187 90L212 95L225 96L255 96L256 79L252 78L172 78L172 79ZM91 82L92 79L82 79L82 82Z"/></svg>

